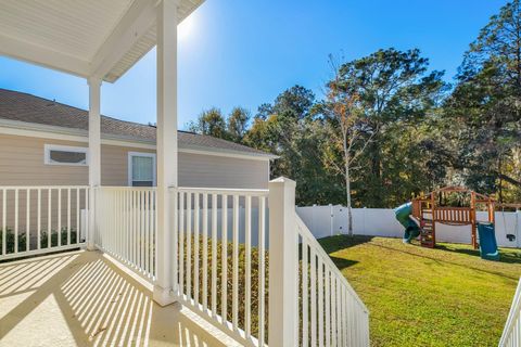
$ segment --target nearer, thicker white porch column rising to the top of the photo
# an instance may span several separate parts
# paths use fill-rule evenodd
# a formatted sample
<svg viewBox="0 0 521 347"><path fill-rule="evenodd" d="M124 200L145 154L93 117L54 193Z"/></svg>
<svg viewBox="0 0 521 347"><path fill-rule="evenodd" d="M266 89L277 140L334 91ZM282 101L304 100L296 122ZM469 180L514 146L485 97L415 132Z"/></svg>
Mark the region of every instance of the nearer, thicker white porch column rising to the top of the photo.
<svg viewBox="0 0 521 347"><path fill-rule="evenodd" d="M154 300L174 303L174 215L168 188L177 187L177 8L178 0L157 5L157 272Z"/></svg>

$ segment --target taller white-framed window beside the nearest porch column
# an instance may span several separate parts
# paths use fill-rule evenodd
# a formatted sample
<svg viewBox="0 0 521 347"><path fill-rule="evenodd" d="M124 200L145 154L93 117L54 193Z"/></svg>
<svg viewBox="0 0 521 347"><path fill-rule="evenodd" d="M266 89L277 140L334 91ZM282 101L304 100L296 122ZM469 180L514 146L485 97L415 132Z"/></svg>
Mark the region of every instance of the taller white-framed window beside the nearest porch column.
<svg viewBox="0 0 521 347"><path fill-rule="evenodd" d="M155 185L155 154L137 152L128 153L128 185Z"/></svg>

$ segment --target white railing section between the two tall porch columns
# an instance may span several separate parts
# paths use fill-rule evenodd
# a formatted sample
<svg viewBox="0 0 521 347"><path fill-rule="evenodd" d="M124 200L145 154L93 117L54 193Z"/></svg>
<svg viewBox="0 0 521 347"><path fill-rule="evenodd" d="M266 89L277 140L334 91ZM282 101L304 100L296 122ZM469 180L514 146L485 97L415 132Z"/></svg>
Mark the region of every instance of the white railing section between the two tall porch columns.
<svg viewBox="0 0 521 347"><path fill-rule="evenodd" d="M156 266L155 188L96 188L98 248L136 272L154 280Z"/></svg>

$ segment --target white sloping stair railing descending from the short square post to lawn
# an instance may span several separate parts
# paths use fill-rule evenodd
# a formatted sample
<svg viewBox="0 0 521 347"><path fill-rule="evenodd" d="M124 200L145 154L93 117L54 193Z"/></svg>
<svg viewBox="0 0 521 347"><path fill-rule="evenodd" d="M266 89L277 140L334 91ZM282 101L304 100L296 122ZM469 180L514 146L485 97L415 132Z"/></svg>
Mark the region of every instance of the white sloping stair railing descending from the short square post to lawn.
<svg viewBox="0 0 521 347"><path fill-rule="evenodd" d="M369 346L369 311L295 214L300 247L303 346Z"/></svg>

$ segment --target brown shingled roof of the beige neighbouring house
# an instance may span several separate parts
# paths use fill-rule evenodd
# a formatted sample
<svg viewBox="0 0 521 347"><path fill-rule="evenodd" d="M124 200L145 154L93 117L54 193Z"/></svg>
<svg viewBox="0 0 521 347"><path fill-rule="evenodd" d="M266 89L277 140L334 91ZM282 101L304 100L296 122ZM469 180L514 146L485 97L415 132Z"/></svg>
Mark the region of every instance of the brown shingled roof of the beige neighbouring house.
<svg viewBox="0 0 521 347"><path fill-rule="evenodd" d="M65 105L33 94L0 88L0 120L8 119L47 127L59 127L71 131L87 133L89 113L85 110ZM101 116L101 133L127 141L149 142L155 144L156 128L132 121ZM200 149L252 156L276 156L239 143L188 131L178 131L181 149Z"/></svg>

